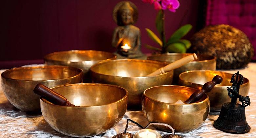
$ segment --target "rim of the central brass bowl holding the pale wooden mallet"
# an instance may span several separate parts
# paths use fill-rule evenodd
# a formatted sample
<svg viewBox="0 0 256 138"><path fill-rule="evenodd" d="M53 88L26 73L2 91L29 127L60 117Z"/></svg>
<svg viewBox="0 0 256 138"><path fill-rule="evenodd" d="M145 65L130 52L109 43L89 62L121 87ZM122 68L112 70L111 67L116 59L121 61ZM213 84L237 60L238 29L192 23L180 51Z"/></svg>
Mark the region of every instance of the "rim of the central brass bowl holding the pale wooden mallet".
<svg viewBox="0 0 256 138"><path fill-rule="evenodd" d="M154 75L154 76L131 76L131 77L127 77L127 76L116 76L116 75L107 75L107 74L102 74L102 73L98 73L98 72L95 72L93 71L92 69L96 66L99 66L101 64L104 64L104 63L107 63L107 62L119 62L119 61L127 61L127 62L131 62L131 61L135 61L135 62L150 62L150 63L161 63L161 64L165 64L168 65L169 63L167 62L160 62L160 61L154 61L154 60L139 60L139 59L116 59L116 60L103 60L103 61L100 61L94 65L91 66L90 68L90 71L92 74L99 74L99 75L104 75L104 76L112 76L112 77L119 77L119 78L149 78L149 77L156 77L156 76L161 76L161 75L165 75L165 74L168 74L170 72L173 72L173 70L171 71L168 71L168 72L165 72L163 74L159 74L159 75Z"/></svg>

